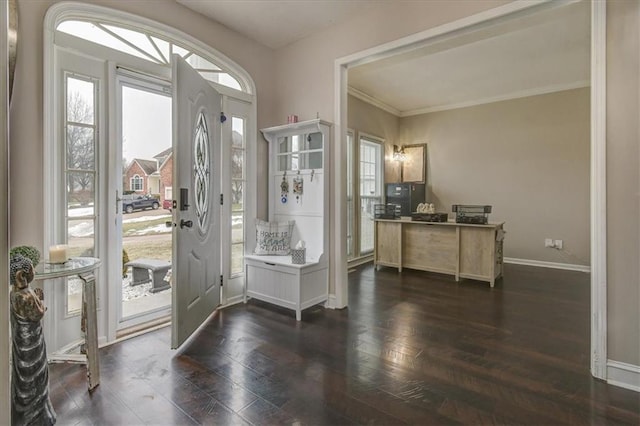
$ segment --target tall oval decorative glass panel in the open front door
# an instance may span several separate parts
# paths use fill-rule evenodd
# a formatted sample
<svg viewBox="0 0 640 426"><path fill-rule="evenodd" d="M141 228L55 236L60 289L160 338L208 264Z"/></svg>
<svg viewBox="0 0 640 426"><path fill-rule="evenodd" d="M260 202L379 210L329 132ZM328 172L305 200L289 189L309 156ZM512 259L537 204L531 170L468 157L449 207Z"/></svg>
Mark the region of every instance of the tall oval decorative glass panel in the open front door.
<svg viewBox="0 0 640 426"><path fill-rule="evenodd" d="M201 112L195 128L193 145L193 191L198 226L205 231L209 213L209 129L207 120Z"/></svg>

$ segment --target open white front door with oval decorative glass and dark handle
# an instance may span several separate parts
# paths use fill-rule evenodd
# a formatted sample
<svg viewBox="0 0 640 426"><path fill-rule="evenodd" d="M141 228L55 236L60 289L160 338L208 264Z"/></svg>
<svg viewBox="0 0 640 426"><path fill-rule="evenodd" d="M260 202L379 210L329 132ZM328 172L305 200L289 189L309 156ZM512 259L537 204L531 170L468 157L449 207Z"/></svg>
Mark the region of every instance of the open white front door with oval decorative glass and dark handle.
<svg viewBox="0 0 640 426"><path fill-rule="evenodd" d="M220 304L221 96L180 56L173 79L172 348Z"/></svg>

